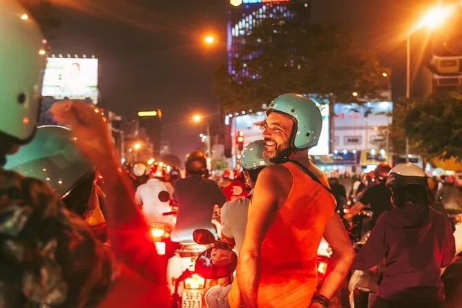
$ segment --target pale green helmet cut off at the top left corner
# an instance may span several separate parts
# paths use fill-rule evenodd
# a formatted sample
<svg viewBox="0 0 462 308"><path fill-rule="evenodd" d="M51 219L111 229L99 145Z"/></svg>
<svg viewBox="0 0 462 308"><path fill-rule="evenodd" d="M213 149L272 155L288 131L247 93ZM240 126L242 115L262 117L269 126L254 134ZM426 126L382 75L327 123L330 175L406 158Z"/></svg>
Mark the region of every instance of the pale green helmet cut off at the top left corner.
<svg viewBox="0 0 462 308"><path fill-rule="evenodd" d="M44 37L15 0L0 0L0 133L28 142L37 126Z"/></svg>

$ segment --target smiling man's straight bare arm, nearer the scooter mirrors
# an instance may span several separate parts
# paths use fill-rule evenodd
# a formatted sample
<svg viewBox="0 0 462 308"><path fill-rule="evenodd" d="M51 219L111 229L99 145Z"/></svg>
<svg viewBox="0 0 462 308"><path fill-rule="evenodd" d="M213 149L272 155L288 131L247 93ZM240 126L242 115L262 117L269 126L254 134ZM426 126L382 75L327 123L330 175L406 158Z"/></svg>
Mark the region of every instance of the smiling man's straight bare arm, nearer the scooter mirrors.
<svg viewBox="0 0 462 308"><path fill-rule="evenodd" d="M236 275L241 305L246 308L253 308L257 305L262 241L280 200L286 198L286 196L282 198L278 196L281 191L278 180L283 180L285 177L290 178L291 175L283 166L265 168L258 176L255 192L249 205L247 228Z"/></svg>

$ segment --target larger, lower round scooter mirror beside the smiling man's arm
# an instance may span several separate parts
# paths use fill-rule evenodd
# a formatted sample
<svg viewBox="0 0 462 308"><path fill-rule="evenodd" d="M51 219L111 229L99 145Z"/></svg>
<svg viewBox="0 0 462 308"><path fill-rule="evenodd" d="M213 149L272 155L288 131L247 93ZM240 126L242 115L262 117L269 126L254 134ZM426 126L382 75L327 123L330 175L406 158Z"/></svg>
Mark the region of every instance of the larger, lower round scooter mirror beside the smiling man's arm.
<svg viewBox="0 0 462 308"><path fill-rule="evenodd" d="M195 272L205 279L220 279L229 276L238 265L238 256L225 248L209 248L202 251L195 261Z"/></svg>

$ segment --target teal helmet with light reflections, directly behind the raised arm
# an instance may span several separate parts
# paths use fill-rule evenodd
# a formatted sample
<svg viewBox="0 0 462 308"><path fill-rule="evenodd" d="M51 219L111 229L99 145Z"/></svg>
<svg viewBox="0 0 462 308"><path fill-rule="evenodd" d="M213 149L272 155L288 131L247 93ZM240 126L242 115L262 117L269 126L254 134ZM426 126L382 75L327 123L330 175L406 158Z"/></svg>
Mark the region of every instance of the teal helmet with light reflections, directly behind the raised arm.
<svg viewBox="0 0 462 308"><path fill-rule="evenodd" d="M37 128L28 144L7 156L5 169L50 184L62 198L94 171L81 155L68 128L61 126Z"/></svg>

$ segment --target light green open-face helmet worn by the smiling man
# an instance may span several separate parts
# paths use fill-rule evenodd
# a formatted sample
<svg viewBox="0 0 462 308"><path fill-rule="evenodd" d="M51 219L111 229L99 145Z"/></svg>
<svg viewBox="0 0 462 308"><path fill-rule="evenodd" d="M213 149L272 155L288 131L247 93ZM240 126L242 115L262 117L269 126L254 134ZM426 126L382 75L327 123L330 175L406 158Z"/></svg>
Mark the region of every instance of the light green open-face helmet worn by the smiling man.
<svg viewBox="0 0 462 308"><path fill-rule="evenodd" d="M323 128L321 111L309 97L300 94L283 94L269 104L267 115L282 113L293 119L290 146L295 150L312 148L318 144Z"/></svg>

